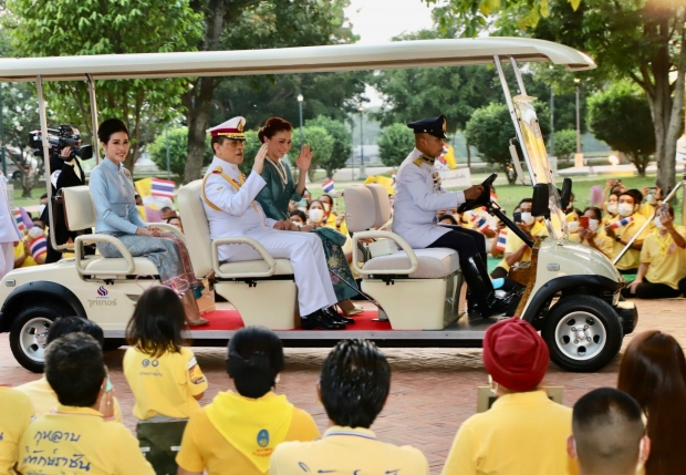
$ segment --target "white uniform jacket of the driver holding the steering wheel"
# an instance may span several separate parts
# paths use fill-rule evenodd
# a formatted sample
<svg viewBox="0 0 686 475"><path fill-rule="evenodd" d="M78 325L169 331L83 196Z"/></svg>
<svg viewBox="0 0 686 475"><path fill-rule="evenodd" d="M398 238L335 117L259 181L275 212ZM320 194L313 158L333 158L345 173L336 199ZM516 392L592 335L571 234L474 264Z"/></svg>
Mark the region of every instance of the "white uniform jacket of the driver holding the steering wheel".
<svg viewBox="0 0 686 475"><path fill-rule="evenodd" d="M438 226L436 211L465 203L464 192L446 192L434 165L418 149L403 161L395 175L393 231L413 248L425 248L450 229Z"/></svg>

